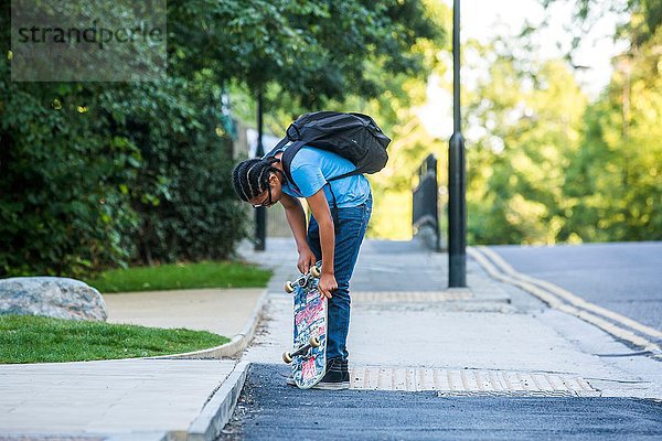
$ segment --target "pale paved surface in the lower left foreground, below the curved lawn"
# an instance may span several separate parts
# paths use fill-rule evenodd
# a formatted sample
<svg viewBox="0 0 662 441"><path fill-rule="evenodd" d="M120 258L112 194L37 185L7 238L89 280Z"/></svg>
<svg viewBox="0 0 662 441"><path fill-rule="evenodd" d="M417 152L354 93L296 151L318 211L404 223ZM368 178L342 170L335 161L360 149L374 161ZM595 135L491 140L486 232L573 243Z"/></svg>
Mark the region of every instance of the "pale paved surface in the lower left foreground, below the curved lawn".
<svg viewBox="0 0 662 441"><path fill-rule="evenodd" d="M0 365L0 438L10 433L183 431L233 370L233 361L137 359Z"/></svg>

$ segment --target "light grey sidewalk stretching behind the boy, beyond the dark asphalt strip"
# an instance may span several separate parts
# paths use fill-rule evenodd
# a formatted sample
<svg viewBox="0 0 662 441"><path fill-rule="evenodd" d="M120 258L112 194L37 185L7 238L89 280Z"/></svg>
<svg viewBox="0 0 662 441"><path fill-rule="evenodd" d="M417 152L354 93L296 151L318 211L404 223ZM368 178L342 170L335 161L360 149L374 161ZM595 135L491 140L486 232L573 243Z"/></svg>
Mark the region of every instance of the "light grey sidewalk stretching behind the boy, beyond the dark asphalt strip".
<svg viewBox="0 0 662 441"><path fill-rule="evenodd" d="M276 266L266 330L244 359L278 364L291 345L293 243L273 239L248 257ZM291 250L291 251L288 251ZM489 278L472 259L468 289L447 289L448 256L416 243L366 240L352 279L352 387L662 398L662 364L600 357L632 349L576 316Z"/></svg>

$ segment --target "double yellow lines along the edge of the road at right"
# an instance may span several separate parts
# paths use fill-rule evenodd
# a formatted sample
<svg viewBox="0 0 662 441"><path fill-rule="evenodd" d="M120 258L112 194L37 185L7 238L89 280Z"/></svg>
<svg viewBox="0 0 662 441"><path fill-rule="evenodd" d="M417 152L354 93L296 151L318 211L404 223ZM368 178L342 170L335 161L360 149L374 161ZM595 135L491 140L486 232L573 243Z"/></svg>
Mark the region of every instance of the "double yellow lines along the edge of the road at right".
<svg viewBox="0 0 662 441"><path fill-rule="evenodd" d="M598 306L595 303L587 302L554 283L522 275L501 258L501 256L487 247L469 247L467 248L467 251L494 279L522 288L547 303L551 308L589 322L618 338L629 342L634 346L642 347L644 351L652 352L654 358L660 358L660 354L662 353L660 346L637 335L632 331L617 326L596 314L600 314L604 318L613 320L623 326L650 336L662 338L661 332L645 326L632 319L626 318L624 315Z"/></svg>

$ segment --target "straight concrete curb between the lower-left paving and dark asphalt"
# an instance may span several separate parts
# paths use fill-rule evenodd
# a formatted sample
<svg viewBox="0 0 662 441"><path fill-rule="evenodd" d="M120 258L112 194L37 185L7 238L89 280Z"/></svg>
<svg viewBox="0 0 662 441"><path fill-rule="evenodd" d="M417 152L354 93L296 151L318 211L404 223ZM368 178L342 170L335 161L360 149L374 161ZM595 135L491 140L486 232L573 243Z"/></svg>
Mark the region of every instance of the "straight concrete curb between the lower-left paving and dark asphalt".
<svg viewBox="0 0 662 441"><path fill-rule="evenodd" d="M249 369L250 363L237 363L234 370L221 385L221 388L212 396L212 399L207 401L197 418L189 427L188 441L212 441L218 437L232 418Z"/></svg>

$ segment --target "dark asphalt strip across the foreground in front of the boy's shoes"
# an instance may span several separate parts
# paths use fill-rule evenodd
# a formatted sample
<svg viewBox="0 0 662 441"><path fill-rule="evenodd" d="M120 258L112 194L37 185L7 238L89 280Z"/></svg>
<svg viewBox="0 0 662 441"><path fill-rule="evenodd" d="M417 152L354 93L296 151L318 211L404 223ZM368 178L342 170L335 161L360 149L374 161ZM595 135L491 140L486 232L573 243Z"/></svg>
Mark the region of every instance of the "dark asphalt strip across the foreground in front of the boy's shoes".
<svg viewBox="0 0 662 441"><path fill-rule="evenodd" d="M221 440L660 439L662 404L627 398L440 398L435 392L286 386L253 365Z"/></svg>

